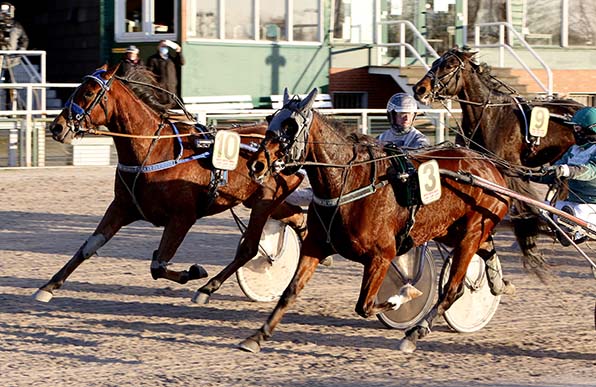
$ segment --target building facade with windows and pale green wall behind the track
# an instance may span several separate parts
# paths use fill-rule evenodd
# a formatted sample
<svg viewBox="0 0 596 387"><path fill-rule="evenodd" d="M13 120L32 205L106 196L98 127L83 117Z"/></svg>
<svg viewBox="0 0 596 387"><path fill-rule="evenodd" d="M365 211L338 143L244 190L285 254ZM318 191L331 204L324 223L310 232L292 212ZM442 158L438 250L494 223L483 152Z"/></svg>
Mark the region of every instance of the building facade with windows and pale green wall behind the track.
<svg viewBox="0 0 596 387"><path fill-rule="evenodd" d="M27 13L27 4L35 12ZM25 0L16 5L31 48L48 51L53 82L78 81L105 62L116 63L130 44L147 58L160 40L170 39L181 44L186 58L180 69L182 97L249 94L255 106L265 107L268 96L284 87L297 94L318 87L343 107L379 107L400 86L395 77L373 70L404 67L396 58L405 48L388 43L405 42L430 62L417 32L440 53L477 41L498 43L499 27L487 23L508 22L548 63L555 91L596 91L596 3L590 0ZM544 75L511 32L502 39ZM406 51L405 65L420 65ZM482 48L479 59L493 64L497 56L496 48ZM506 66L527 77L512 58Z"/></svg>

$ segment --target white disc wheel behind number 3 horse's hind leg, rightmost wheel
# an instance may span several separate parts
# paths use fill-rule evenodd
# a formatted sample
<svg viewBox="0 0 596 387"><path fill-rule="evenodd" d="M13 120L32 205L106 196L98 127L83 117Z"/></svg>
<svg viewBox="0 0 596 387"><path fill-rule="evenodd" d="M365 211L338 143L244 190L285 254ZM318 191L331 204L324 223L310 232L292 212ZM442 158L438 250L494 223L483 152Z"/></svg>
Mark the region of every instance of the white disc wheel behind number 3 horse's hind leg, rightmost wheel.
<svg viewBox="0 0 596 387"><path fill-rule="evenodd" d="M441 270L441 291L449 279L451 257L445 261ZM484 260L474 254L464 282L464 293L445 311L445 320L453 330L461 333L476 332L492 319L501 296L490 292Z"/></svg>

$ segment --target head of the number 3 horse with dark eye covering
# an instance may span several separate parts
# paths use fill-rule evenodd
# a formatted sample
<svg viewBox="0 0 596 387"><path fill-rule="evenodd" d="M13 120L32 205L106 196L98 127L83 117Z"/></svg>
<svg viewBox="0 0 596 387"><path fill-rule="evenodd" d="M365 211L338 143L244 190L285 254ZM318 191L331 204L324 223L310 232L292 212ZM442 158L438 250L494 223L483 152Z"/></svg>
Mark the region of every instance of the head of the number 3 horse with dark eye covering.
<svg viewBox="0 0 596 387"><path fill-rule="evenodd" d="M250 175L262 181L271 174L294 173L307 153L310 127L314 118L313 104L317 96L313 89L304 100L290 98L284 90L283 107L267 117L269 123L260 149L248 160ZM288 164L293 164L288 166Z"/></svg>

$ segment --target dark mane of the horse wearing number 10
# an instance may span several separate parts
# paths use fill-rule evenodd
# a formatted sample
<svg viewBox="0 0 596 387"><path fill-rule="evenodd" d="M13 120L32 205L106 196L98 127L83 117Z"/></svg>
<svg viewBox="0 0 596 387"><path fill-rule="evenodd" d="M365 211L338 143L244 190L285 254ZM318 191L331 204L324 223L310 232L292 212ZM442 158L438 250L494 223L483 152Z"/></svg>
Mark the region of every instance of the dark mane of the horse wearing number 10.
<svg viewBox="0 0 596 387"><path fill-rule="evenodd" d="M147 67L131 67L124 77L119 78L141 101L159 114L167 114L172 108L170 96L155 87L160 87L155 74ZM167 102L164 102L167 101Z"/></svg>

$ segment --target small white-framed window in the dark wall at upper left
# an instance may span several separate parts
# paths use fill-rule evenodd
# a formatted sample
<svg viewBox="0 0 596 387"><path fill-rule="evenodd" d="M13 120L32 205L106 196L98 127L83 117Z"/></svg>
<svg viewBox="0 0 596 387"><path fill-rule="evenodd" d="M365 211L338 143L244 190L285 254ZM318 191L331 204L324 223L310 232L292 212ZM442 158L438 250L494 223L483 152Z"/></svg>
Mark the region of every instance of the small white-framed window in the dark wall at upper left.
<svg viewBox="0 0 596 387"><path fill-rule="evenodd" d="M178 4L175 0L115 0L117 42L176 39Z"/></svg>

